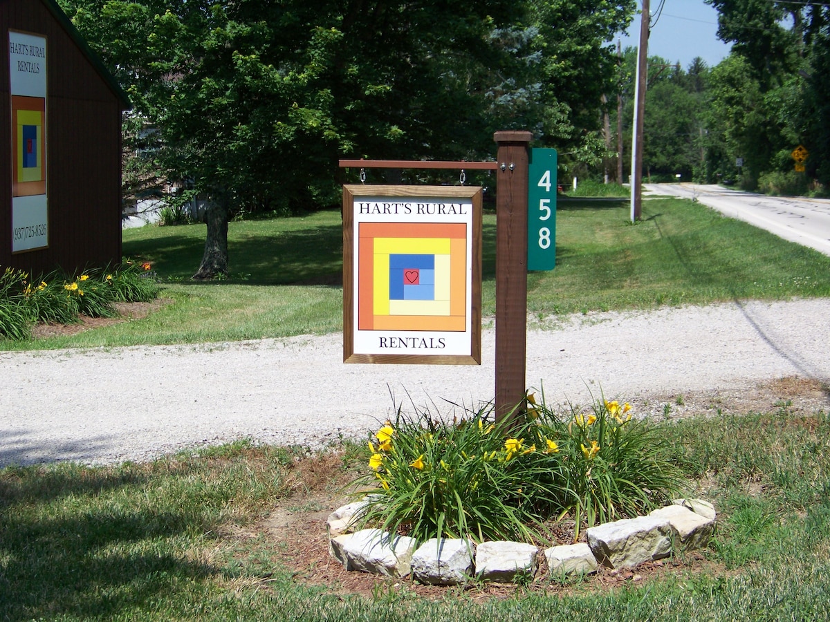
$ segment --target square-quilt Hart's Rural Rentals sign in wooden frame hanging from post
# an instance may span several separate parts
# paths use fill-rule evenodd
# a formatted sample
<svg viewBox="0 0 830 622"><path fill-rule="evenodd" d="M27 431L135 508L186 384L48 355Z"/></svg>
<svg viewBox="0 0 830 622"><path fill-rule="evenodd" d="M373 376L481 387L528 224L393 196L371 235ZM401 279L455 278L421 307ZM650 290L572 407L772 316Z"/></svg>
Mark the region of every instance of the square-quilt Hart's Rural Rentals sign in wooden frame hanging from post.
<svg viewBox="0 0 830 622"><path fill-rule="evenodd" d="M481 187L343 187L343 360L481 364Z"/></svg>

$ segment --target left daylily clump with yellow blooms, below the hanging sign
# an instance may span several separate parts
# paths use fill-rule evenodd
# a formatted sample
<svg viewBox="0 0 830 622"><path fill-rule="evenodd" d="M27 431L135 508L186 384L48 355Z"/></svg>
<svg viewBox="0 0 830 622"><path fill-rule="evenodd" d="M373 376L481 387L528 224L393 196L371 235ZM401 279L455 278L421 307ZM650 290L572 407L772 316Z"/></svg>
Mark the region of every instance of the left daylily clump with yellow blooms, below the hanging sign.
<svg viewBox="0 0 830 622"><path fill-rule="evenodd" d="M488 420L488 411L452 423L429 412L398 416L369 440L374 485L367 523L403 531L419 542L431 537L533 541L544 532L544 512L563 498L557 456L524 445L537 430L528 421ZM505 437L512 435L505 440Z"/></svg>

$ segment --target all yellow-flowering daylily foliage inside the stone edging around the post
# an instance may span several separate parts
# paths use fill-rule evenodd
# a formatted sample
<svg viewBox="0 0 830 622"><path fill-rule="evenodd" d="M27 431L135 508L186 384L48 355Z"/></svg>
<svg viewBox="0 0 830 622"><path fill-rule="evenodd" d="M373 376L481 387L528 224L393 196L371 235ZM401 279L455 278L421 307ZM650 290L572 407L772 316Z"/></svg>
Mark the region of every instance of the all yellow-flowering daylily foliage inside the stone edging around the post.
<svg viewBox="0 0 830 622"><path fill-rule="evenodd" d="M357 484L375 488L361 519L419 542L533 542L570 513L576 539L583 524L632 518L681 488L662 430L632 420L630 406L597 401L595 414L560 417L528 401L498 423L489 410L452 423L398 410L367 443L371 472Z"/></svg>

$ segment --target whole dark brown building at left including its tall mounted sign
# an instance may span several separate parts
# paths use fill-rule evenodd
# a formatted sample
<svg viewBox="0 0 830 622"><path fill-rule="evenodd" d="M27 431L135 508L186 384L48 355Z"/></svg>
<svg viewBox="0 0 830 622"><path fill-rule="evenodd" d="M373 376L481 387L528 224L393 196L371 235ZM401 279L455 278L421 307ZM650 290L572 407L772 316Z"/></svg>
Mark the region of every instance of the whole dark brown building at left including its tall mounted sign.
<svg viewBox="0 0 830 622"><path fill-rule="evenodd" d="M0 266L121 258L124 91L54 0L0 2Z"/></svg>

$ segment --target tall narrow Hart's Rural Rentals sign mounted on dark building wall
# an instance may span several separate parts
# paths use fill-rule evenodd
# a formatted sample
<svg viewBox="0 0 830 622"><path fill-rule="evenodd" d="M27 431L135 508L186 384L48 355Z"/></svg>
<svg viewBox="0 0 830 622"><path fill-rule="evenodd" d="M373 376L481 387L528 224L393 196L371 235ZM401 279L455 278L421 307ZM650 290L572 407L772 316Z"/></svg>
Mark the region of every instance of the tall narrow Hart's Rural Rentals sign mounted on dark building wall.
<svg viewBox="0 0 830 622"><path fill-rule="evenodd" d="M49 245L46 37L8 32L12 109L12 252Z"/></svg>

